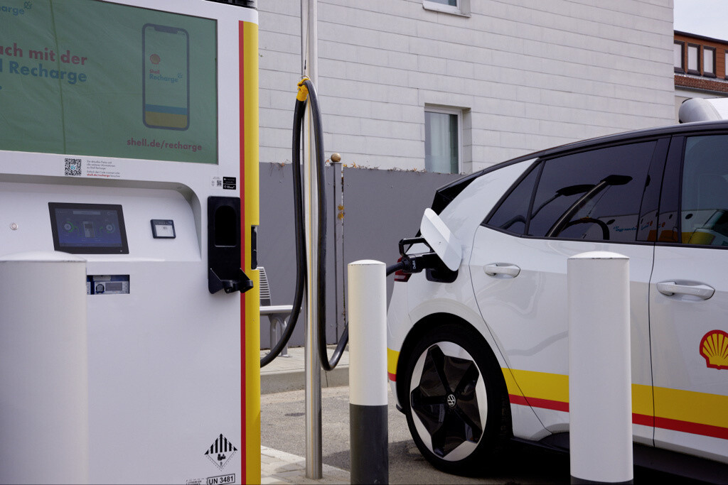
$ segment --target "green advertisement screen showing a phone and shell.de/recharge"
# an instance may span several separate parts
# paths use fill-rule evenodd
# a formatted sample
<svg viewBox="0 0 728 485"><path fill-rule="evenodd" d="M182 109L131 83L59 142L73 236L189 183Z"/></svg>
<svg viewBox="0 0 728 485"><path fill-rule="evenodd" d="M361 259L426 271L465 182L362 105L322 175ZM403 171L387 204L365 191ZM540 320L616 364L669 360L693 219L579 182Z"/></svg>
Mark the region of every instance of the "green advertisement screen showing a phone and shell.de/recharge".
<svg viewBox="0 0 728 485"><path fill-rule="evenodd" d="M0 150L218 162L215 20L0 0Z"/></svg>

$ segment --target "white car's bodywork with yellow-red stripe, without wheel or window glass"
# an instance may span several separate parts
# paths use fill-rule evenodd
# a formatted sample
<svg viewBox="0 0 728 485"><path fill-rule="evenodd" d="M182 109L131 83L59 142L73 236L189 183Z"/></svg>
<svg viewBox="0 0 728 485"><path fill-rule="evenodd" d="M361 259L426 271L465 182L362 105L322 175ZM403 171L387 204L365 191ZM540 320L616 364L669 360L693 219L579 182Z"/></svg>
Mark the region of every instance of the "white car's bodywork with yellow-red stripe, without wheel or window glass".
<svg viewBox="0 0 728 485"><path fill-rule="evenodd" d="M684 158L687 167L684 151L691 137L727 134L728 121L719 121L612 135L523 156L470 175L464 179L467 183L449 185L447 193L438 194L440 199L436 196L435 202L443 222L462 242L463 260L453 283L429 281L425 273L419 273L408 283L395 284L387 317L392 390L396 390L392 372L403 370L400 351L405 339L411 335L416 338L419 322L434 314L439 314L438 318L450 314L477 329L493 350L506 383L515 437L539 441L551 433L568 431L566 262L582 252L616 252L630 257L635 441L728 462L728 247L724 247L728 246L724 217L728 201L716 207L696 206L689 216L678 212L677 202L685 184L689 185L688 193L700 192L682 181ZM650 141L656 142L657 148L644 183L638 219L628 212L582 216L582 222L593 224L582 236L585 239L609 239L599 235L600 226L606 224L609 231L615 231L612 239L626 240L625 231L635 231L637 242L568 239L575 236L552 232L558 225L546 234L549 237L518 236L481 225L536 161L549 163L559 156ZM728 136L724 145L728 146ZM696 160L714 156L721 164L724 159L728 161L727 148L701 153ZM728 184L728 169L719 176ZM536 184L541 175L537 177ZM579 188L564 185L572 191ZM705 191L726 192L728 199L728 191ZM520 195L513 199L525 200ZM529 217L534 199L535 195ZM509 214L508 210L503 212ZM675 222L681 218L692 218L689 224L683 221L682 233L680 223ZM665 221L668 227L664 227ZM686 225L692 232L685 231ZM670 233L667 237L665 231ZM667 294L666 283L689 286L697 296ZM660 289L658 284L662 284ZM717 349L715 355L705 350L709 344Z"/></svg>

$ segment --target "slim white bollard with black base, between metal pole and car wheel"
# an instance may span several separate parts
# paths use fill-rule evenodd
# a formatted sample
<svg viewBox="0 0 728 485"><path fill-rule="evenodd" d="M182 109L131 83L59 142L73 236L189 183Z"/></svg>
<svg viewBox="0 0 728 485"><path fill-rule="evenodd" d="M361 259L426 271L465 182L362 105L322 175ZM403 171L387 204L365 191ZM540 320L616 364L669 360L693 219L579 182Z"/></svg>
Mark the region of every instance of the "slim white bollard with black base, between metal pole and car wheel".
<svg viewBox="0 0 728 485"><path fill-rule="evenodd" d="M351 483L387 484L387 284L383 262L349 263Z"/></svg>

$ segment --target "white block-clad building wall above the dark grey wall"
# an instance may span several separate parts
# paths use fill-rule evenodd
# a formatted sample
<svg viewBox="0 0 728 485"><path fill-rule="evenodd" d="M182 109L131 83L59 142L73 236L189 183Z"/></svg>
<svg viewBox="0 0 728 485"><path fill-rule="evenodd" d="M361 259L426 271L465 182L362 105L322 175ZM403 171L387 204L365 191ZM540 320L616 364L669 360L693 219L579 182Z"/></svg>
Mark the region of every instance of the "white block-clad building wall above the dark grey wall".
<svg viewBox="0 0 728 485"><path fill-rule="evenodd" d="M318 1L327 153L424 169L424 108L462 109L463 171L674 117L672 0ZM261 162L290 161L300 2L258 2Z"/></svg>

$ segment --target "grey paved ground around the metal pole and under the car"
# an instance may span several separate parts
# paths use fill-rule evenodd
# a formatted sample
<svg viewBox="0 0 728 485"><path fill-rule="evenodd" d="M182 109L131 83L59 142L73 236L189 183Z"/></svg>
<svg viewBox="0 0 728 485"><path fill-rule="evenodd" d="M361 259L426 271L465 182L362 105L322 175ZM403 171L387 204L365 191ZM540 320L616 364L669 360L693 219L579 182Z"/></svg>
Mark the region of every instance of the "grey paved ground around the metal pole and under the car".
<svg viewBox="0 0 728 485"><path fill-rule="evenodd" d="M261 351L261 355L264 352ZM349 483L348 354L334 372L322 371L323 478L306 479L304 349L291 348L261 369L261 468L264 484ZM419 453L407 422L389 394L390 484L564 484L569 483L569 455L539 446L509 444L500 460L480 476L455 476L433 468ZM635 483L695 483L635 468Z"/></svg>

